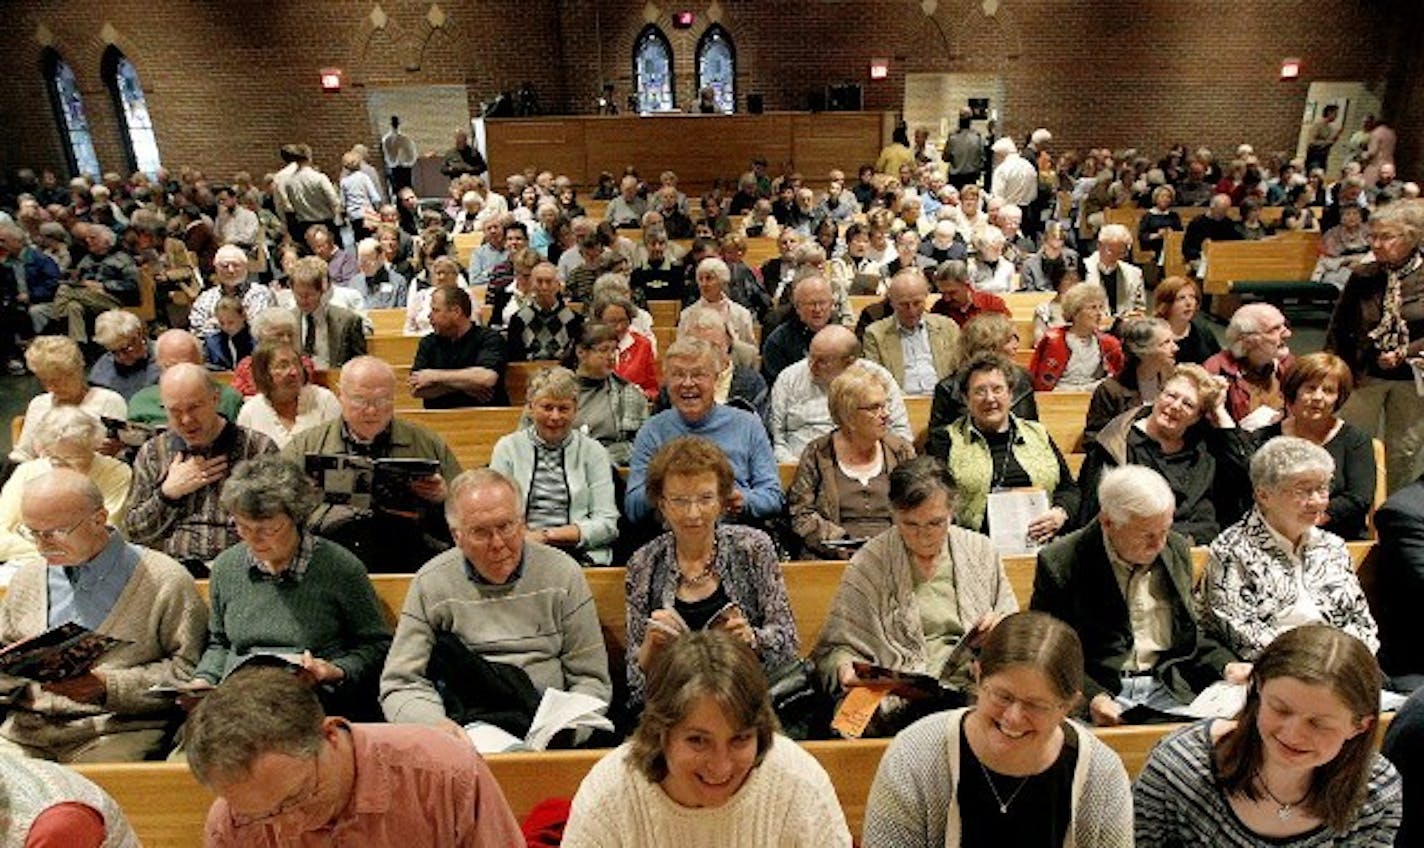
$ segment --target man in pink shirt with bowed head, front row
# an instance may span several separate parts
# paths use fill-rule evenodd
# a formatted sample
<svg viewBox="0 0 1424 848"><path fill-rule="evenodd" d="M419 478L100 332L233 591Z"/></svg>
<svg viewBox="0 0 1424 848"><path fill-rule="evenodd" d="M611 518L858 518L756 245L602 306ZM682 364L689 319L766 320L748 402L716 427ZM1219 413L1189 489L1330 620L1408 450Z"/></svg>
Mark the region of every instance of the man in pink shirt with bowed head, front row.
<svg viewBox="0 0 1424 848"><path fill-rule="evenodd" d="M188 765L218 795L209 848L524 844L457 728L328 717L285 669L228 677L194 709L187 736Z"/></svg>

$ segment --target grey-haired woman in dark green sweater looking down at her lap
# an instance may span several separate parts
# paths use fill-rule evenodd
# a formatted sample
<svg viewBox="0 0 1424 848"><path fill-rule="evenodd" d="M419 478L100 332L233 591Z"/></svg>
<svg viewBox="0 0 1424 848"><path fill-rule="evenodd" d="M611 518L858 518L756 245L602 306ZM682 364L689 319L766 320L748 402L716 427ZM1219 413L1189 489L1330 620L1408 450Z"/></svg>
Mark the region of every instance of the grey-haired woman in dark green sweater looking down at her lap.
<svg viewBox="0 0 1424 848"><path fill-rule="evenodd" d="M379 719L390 627L360 559L306 529L320 499L302 468L278 454L232 470L221 502L242 541L211 563L208 647L191 689L276 654L302 667L328 713Z"/></svg>

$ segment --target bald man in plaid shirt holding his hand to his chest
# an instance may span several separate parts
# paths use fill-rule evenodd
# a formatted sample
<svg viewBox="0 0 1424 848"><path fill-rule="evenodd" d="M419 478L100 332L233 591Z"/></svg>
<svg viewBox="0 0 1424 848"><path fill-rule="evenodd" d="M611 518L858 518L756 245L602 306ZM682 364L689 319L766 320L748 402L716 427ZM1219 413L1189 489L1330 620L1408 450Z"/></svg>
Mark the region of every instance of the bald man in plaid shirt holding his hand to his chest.
<svg viewBox="0 0 1424 848"><path fill-rule="evenodd" d="M168 430L138 448L124 531L140 545L161 546L195 575L238 544L232 516L218 494L234 465L276 445L218 411L222 397L198 364L178 363L158 378Z"/></svg>

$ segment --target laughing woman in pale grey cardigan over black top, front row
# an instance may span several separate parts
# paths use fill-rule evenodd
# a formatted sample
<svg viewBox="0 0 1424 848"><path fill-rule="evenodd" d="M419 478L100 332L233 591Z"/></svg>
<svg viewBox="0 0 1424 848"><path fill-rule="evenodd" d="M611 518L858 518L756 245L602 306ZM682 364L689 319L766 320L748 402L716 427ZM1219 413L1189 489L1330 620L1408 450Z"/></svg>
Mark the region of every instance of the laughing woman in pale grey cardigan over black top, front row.
<svg viewBox="0 0 1424 848"><path fill-rule="evenodd" d="M1068 719L1082 646L1041 612L984 640L975 704L936 713L890 743L866 804L866 848L1132 847L1122 760Z"/></svg>

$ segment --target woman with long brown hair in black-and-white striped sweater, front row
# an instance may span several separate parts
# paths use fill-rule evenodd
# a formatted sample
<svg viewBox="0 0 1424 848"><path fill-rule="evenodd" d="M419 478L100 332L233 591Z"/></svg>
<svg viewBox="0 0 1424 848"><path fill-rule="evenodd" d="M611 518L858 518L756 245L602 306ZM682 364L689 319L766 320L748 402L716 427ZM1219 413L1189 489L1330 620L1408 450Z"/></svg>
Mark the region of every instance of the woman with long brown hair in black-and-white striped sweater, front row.
<svg viewBox="0 0 1424 848"><path fill-rule="evenodd" d="M1336 627L1279 636L1236 719L1189 724L1152 750L1132 790L1136 844L1394 845L1400 775L1374 751L1383 677Z"/></svg>

